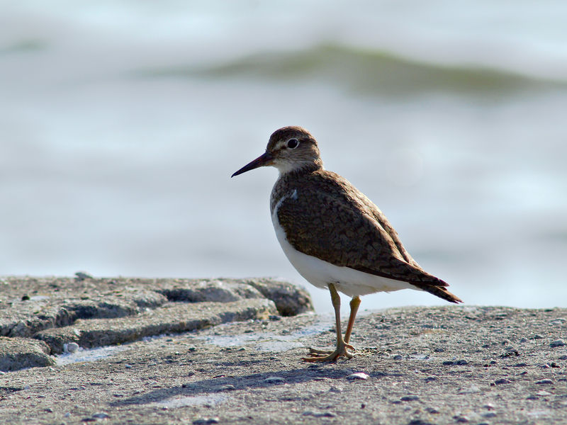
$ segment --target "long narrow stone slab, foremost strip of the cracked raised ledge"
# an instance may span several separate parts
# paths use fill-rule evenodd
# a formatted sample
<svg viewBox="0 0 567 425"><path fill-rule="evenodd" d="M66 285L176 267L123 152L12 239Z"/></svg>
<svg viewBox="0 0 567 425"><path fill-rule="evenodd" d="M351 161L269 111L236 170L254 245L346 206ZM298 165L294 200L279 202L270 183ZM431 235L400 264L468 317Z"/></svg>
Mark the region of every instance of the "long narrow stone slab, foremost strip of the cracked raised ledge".
<svg viewBox="0 0 567 425"><path fill-rule="evenodd" d="M267 319L271 314L277 314L274 302L264 298L169 304L134 317L77 320L72 326L40 331L34 337L45 341L52 353L60 354L64 344L69 342L83 348L117 345L144 336L194 331L233 321Z"/></svg>

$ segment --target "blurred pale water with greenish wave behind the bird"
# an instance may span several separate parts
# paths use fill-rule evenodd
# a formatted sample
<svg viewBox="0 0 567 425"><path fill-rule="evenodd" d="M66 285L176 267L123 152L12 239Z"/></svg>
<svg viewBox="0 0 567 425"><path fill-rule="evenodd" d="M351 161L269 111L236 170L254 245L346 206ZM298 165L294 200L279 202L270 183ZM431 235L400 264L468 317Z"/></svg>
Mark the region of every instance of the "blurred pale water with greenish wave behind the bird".
<svg viewBox="0 0 567 425"><path fill-rule="evenodd" d="M467 303L566 307L566 22L562 0L0 0L0 274L276 276L328 312L276 242L277 171L230 179L302 125Z"/></svg>

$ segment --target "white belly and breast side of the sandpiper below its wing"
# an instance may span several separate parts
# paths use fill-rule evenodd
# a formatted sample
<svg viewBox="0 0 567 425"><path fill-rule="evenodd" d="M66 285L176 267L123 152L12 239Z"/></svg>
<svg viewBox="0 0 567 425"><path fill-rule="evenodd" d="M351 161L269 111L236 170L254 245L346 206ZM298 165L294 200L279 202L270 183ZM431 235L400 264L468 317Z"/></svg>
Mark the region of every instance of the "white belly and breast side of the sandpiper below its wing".
<svg viewBox="0 0 567 425"><path fill-rule="evenodd" d="M376 292L391 292L400 289L419 290L419 288L407 282L364 273L363 271L354 270L354 268L335 266L328 261L303 254L303 252L291 246L286 238L286 232L279 225L277 216L278 206L276 205L271 215L278 242L293 267L312 285L318 288L327 288L329 283L333 283L338 291L350 297Z"/></svg>

